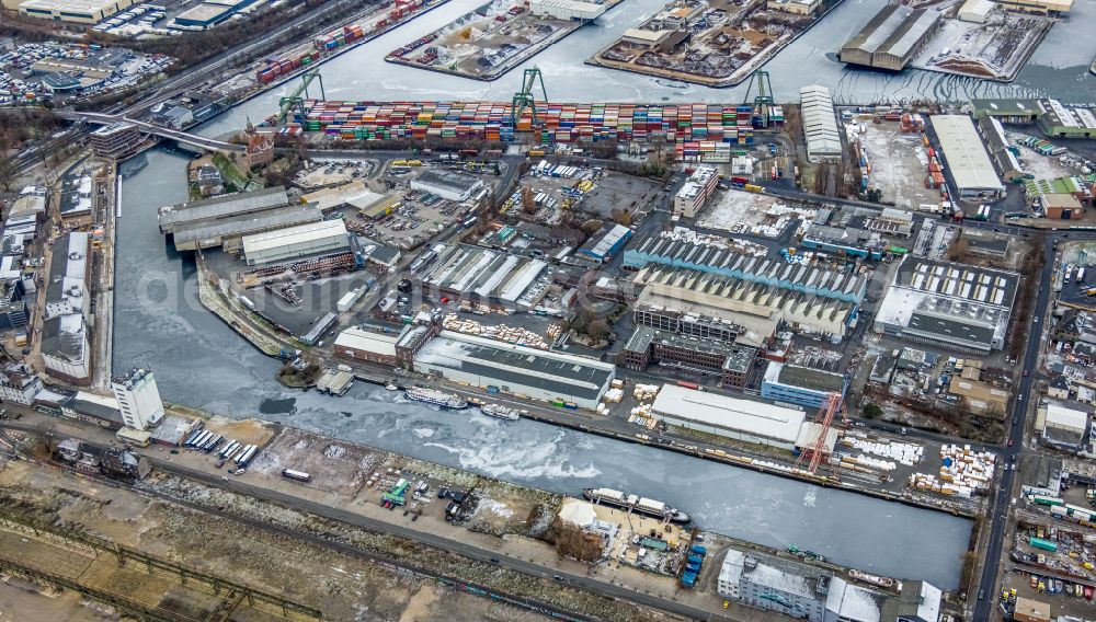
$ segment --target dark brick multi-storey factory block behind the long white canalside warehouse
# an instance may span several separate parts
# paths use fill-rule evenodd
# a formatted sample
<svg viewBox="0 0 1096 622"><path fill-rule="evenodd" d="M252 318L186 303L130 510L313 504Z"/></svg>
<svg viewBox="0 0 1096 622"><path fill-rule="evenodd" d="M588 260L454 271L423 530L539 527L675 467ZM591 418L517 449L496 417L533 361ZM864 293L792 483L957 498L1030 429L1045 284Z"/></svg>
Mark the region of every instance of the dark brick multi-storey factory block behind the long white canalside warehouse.
<svg viewBox="0 0 1096 622"><path fill-rule="evenodd" d="M681 375L717 377L727 380L724 385L742 389L757 349L636 326L625 344L624 357L625 367L630 369L642 371L657 364Z"/></svg>

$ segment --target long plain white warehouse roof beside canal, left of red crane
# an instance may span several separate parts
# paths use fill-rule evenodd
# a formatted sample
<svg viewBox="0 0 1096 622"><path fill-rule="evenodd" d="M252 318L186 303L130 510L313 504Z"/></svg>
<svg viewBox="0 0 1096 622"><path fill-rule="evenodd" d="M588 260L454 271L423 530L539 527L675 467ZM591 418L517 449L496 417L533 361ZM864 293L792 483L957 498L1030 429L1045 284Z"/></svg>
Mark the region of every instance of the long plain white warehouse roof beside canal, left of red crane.
<svg viewBox="0 0 1096 622"><path fill-rule="evenodd" d="M807 414L802 410L717 395L674 384L662 385L651 408L674 418L741 430L789 444L796 442L799 428L807 421Z"/></svg>

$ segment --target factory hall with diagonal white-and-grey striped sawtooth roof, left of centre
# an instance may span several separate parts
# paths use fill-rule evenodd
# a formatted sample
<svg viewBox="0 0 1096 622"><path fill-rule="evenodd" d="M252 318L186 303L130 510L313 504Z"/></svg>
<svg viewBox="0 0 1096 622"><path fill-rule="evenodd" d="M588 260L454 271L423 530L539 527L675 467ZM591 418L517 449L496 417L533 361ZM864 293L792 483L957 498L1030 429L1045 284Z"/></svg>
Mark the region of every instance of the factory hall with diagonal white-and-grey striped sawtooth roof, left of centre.
<svg viewBox="0 0 1096 622"><path fill-rule="evenodd" d="M464 244L438 244L430 252L434 253L433 261L420 273L426 295L476 298L507 308L530 309L547 290L538 286L548 267L543 260Z"/></svg>

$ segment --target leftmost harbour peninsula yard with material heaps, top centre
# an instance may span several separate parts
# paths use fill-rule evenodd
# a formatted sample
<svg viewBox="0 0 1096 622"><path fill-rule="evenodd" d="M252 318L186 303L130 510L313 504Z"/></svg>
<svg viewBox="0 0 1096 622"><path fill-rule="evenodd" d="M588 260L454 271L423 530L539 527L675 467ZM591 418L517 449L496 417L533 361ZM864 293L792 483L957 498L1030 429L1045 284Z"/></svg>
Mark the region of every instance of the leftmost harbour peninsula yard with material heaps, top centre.
<svg viewBox="0 0 1096 622"><path fill-rule="evenodd" d="M598 4L608 10L619 2L621 0L606 0ZM494 0L392 50L387 60L490 81L585 23L581 20L536 16L529 11L527 2Z"/></svg>

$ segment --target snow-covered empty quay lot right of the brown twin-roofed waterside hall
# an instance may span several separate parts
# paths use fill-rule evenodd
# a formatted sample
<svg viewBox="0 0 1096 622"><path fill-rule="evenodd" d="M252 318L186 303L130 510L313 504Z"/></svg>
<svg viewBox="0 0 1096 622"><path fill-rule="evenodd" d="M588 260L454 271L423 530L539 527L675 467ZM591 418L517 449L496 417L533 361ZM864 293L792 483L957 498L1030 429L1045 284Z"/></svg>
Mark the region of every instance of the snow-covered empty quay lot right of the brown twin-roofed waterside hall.
<svg viewBox="0 0 1096 622"><path fill-rule="evenodd" d="M994 10L985 23L944 19L911 67L1012 82L1054 21Z"/></svg>

